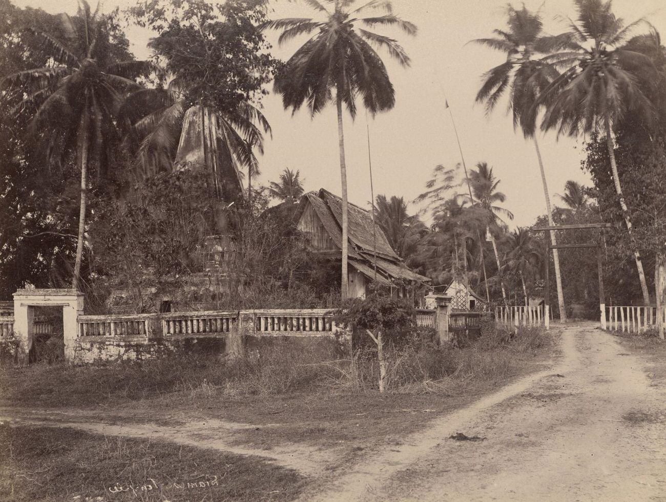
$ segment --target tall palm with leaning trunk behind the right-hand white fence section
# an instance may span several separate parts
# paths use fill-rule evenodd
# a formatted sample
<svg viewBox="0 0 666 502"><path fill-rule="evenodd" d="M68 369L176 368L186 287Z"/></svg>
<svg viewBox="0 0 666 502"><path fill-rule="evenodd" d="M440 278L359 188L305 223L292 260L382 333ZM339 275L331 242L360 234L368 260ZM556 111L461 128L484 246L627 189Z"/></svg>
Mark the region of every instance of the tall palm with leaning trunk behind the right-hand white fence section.
<svg viewBox="0 0 666 502"><path fill-rule="evenodd" d="M552 69L561 70L543 91L538 105L545 106L541 128L557 129L557 134L603 130L611 160L615 192L631 234L631 216L620 185L613 144L613 123L627 112L651 119L653 107L643 95L637 79L637 68L653 69L649 57L622 47L631 30L644 20L625 25L611 11L611 2L575 0L577 21L569 19L569 31L561 37L563 51L543 58ZM643 300L649 305L649 292L643 262L634 252Z"/></svg>

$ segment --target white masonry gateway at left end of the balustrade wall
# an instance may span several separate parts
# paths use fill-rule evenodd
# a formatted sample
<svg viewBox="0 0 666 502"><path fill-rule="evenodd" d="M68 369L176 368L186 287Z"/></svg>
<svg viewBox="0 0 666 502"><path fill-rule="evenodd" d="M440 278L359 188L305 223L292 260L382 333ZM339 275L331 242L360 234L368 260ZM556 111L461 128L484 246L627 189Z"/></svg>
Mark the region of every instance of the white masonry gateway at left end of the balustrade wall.
<svg viewBox="0 0 666 502"><path fill-rule="evenodd" d="M65 359L74 360L77 316L83 314L83 294L77 290L18 290L14 293L14 334L19 339L19 353L27 357L33 346L34 308L62 307Z"/></svg>

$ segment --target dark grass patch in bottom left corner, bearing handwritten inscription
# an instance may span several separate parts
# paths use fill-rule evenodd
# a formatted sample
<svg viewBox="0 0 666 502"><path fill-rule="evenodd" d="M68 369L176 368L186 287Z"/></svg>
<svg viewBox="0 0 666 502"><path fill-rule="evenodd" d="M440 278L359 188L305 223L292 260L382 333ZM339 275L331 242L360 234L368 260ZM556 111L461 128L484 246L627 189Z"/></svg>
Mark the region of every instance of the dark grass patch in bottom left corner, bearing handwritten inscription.
<svg viewBox="0 0 666 502"><path fill-rule="evenodd" d="M0 425L0 499L271 501L294 499L298 473L161 441ZM99 497L99 498L98 498Z"/></svg>

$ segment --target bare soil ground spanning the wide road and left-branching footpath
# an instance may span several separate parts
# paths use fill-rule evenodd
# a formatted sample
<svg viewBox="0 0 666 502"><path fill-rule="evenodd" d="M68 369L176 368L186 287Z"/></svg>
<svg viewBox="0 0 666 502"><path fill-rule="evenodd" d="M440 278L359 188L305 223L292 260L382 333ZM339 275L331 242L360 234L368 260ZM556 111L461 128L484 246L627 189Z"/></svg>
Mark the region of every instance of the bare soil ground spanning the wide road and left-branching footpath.
<svg viewBox="0 0 666 502"><path fill-rule="evenodd" d="M168 417L163 409L147 417L149 401L133 416L124 406L107 417L100 409L0 415L262 459L306 477L304 501L666 501L666 344L620 345L592 323L561 328L559 341L551 364L467 399L375 395L345 407L337 396L326 411L320 396L271 398L263 409L254 403L260 418L246 421L232 403Z"/></svg>

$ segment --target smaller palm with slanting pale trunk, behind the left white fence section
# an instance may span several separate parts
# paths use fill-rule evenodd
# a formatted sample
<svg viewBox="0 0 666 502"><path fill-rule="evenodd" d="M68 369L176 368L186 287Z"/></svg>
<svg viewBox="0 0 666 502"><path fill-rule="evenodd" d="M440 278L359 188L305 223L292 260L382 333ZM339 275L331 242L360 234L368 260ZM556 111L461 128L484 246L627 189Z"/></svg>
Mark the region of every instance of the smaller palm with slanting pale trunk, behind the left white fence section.
<svg viewBox="0 0 666 502"><path fill-rule="evenodd" d="M511 211L496 205L505 202L506 196L502 192L496 191L501 180L498 180L495 177L493 174L493 168L489 167L487 162L478 162L476 164L476 170L470 170L469 180L472 186L472 193L474 194L474 198L476 198L476 204L488 213L490 222L493 222L495 226L497 226L498 223L503 223L499 216L500 214L509 218L509 220L513 220L513 213ZM501 274L500 254L498 253L495 236L490 230L490 224L486 225L486 233L493 244L495 261L498 266L498 274ZM500 287L502 299L506 303L506 290L504 288L504 283L501 280L501 276Z"/></svg>

